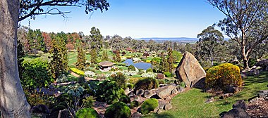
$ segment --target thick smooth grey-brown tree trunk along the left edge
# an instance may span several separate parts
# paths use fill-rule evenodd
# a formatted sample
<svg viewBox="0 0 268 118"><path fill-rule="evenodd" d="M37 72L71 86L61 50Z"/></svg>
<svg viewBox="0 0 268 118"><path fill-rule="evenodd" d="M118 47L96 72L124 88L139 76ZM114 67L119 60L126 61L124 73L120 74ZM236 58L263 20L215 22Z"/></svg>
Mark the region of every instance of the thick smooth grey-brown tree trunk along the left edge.
<svg viewBox="0 0 268 118"><path fill-rule="evenodd" d="M0 110L2 118L30 117L18 77L17 27L19 0L0 1Z"/></svg>

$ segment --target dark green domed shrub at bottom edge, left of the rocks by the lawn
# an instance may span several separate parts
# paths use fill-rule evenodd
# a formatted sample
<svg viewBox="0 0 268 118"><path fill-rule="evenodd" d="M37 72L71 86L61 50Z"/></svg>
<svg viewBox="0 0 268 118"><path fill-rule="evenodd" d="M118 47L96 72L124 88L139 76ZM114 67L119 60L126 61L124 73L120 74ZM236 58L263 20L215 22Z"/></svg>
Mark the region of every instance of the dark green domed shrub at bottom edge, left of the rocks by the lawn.
<svg viewBox="0 0 268 118"><path fill-rule="evenodd" d="M117 102L107 107L104 116L106 118L128 118L131 116L131 112L128 105L122 102Z"/></svg>

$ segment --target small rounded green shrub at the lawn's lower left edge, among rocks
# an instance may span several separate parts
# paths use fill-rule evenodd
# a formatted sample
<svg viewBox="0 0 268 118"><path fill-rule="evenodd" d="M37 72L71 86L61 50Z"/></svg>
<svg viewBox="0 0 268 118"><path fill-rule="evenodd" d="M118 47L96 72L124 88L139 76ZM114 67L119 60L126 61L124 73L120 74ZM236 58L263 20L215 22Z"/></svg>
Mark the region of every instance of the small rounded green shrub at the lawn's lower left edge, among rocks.
<svg viewBox="0 0 268 118"><path fill-rule="evenodd" d="M158 100L155 98L150 98L145 100L140 107L140 112L142 114L147 114L150 111L153 111L158 106Z"/></svg>

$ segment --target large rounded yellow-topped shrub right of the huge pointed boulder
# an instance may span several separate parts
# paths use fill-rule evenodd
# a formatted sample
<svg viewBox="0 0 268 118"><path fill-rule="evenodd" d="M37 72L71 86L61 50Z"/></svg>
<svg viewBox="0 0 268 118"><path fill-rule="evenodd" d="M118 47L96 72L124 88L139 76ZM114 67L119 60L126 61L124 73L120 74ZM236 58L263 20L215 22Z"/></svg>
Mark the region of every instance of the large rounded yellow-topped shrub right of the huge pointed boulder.
<svg viewBox="0 0 268 118"><path fill-rule="evenodd" d="M207 87L216 90L225 90L229 86L242 86L240 69L230 63L211 67L207 71L205 83Z"/></svg>

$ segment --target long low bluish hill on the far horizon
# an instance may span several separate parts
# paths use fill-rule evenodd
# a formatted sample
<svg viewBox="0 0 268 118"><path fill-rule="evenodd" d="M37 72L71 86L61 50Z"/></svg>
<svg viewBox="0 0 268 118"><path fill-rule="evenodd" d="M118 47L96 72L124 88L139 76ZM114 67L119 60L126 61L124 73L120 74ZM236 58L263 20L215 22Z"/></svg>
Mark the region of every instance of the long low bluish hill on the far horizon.
<svg viewBox="0 0 268 118"><path fill-rule="evenodd" d="M149 41L150 39L158 43L163 43L164 41L176 41L176 42L181 42L181 43L196 43L196 41L198 41L197 38L187 38L187 37L172 37L172 38L153 37L153 38L140 38L136 40Z"/></svg>

